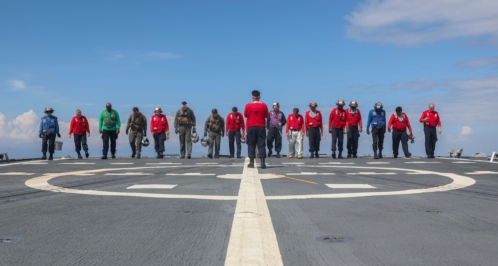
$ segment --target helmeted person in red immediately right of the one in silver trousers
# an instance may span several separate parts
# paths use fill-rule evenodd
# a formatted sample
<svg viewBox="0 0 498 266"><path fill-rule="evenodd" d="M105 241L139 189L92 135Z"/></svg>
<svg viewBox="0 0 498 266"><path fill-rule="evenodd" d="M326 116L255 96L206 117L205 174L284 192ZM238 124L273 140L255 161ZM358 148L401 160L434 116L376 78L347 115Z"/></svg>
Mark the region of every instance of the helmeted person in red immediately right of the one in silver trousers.
<svg viewBox="0 0 498 266"><path fill-rule="evenodd" d="M310 158L315 156L319 158L318 151L320 150L320 140L324 135L324 123L322 120L322 113L317 110L318 104L311 102L309 105L310 111L305 115L306 136L310 141Z"/></svg>

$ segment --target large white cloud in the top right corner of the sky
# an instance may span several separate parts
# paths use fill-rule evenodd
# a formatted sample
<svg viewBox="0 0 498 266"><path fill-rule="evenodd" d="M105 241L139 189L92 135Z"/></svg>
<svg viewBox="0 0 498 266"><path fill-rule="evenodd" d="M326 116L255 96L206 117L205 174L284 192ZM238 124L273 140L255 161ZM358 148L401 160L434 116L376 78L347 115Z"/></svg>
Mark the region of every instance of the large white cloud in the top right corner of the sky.
<svg viewBox="0 0 498 266"><path fill-rule="evenodd" d="M367 0L345 16L348 37L395 45L489 37L498 44L498 1Z"/></svg>

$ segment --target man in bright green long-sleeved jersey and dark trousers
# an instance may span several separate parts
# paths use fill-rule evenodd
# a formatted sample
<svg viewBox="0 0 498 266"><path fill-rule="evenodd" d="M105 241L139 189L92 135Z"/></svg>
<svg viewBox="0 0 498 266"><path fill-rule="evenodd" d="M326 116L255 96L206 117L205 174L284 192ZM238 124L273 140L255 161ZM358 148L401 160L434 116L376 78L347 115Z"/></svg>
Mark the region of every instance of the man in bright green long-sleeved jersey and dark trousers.
<svg viewBox="0 0 498 266"><path fill-rule="evenodd" d="M99 132L102 134L104 145L102 149L102 159L107 159L107 152L109 151L109 139L111 140L111 156L116 158L116 139L118 138L119 128L121 121L119 120L118 111L112 109L110 103L106 104L106 109L102 110L99 119Z"/></svg>

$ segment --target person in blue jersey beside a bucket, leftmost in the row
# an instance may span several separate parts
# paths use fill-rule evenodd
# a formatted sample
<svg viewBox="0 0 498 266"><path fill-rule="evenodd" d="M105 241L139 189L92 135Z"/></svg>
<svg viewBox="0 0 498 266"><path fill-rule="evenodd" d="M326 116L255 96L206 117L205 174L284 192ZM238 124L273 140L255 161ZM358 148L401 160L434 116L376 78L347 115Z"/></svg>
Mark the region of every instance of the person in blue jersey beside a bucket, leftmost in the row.
<svg viewBox="0 0 498 266"><path fill-rule="evenodd" d="M54 111L55 110L51 107L45 108L44 113L47 115L41 118L39 136L42 139L41 152L43 152L43 156L41 156L40 160L47 159L47 149L50 153L48 159L53 160L53 154L55 152L55 135L60 137L59 122L57 122L57 117L52 116Z"/></svg>

